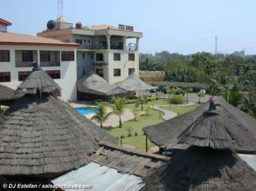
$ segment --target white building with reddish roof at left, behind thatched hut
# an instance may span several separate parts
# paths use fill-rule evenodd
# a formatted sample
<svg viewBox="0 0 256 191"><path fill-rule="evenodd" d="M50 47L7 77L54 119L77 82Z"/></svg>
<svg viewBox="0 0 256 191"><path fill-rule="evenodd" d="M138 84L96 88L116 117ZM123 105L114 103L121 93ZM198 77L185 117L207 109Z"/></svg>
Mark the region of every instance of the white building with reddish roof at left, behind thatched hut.
<svg viewBox="0 0 256 191"><path fill-rule="evenodd" d="M0 19L1 22L4 21ZM3 22L2 22L3 23ZM33 62L47 72L62 89L61 99L76 100L76 47L75 43L61 42L31 35L0 33L0 84L16 89L32 69ZM2 24L4 25L4 24Z"/></svg>

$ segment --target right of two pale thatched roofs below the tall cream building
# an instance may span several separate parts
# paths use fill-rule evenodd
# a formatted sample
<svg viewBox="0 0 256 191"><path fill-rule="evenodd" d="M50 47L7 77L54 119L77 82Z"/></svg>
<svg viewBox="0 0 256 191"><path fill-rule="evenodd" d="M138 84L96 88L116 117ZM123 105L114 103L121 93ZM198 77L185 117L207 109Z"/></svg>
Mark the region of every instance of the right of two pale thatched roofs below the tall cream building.
<svg viewBox="0 0 256 191"><path fill-rule="evenodd" d="M132 72L126 79L124 79L123 81L119 81L118 83L116 83L116 85L119 85L121 88L127 91L151 90L153 88L156 88L144 83L135 74L135 72Z"/></svg>

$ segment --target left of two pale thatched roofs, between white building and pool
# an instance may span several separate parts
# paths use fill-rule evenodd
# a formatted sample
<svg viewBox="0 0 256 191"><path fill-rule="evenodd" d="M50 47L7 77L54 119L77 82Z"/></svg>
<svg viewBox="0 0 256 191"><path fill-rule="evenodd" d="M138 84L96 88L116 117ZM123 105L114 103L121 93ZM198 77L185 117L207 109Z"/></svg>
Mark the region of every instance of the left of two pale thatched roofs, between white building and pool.
<svg viewBox="0 0 256 191"><path fill-rule="evenodd" d="M99 95L112 95L127 92L123 88L120 88L119 85L107 83L104 78L98 76L98 74L94 74L94 72L88 72L77 81L77 90Z"/></svg>

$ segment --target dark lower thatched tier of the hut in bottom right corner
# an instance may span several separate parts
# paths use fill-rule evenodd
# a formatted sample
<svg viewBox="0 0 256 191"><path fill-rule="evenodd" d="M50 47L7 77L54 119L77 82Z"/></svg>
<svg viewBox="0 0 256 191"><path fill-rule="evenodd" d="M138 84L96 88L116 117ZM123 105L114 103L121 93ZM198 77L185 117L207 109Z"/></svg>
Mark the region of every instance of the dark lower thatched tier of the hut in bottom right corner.
<svg viewBox="0 0 256 191"><path fill-rule="evenodd" d="M255 190L256 172L232 151L190 147L145 178L142 190Z"/></svg>

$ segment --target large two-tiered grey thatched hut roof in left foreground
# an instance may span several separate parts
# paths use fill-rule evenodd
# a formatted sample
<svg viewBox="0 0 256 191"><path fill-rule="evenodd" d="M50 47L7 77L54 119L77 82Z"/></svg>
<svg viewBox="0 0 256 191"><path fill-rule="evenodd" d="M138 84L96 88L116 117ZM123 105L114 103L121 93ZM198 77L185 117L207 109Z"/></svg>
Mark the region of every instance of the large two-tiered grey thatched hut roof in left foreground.
<svg viewBox="0 0 256 191"><path fill-rule="evenodd" d="M106 135L115 141L57 99L54 93L60 91L40 69L17 88L25 94L4 113L0 124L0 175L54 176L88 164L88 156L98 149L96 139ZM93 127L98 131L91 132Z"/></svg>

